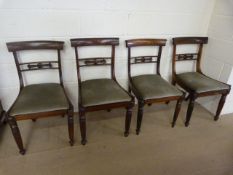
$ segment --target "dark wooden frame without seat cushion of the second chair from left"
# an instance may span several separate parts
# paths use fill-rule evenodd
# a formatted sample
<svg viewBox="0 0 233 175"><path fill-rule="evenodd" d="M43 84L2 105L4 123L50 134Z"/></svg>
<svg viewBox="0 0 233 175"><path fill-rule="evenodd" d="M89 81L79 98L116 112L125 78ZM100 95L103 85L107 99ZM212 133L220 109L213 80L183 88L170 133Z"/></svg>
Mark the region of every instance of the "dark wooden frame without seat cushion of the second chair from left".
<svg viewBox="0 0 233 175"><path fill-rule="evenodd" d="M80 131L82 137L81 144L85 145L87 142L85 113L91 111L98 111L98 110L109 111L112 108L125 107L127 111L126 111L126 119L125 119L124 136L127 137L129 135L132 108L134 106L134 97L120 86L120 84L117 82L115 77L115 47L119 45L119 38L77 38L77 39L71 39L70 41L71 41L71 46L74 47L75 49L76 66L77 66L77 76L78 76L78 85L79 85L79 122L80 122ZM111 57L94 57L94 58L80 59L78 55L78 48L85 46L110 46ZM108 60L110 60L110 63L108 63ZM119 85L119 87L121 87L122 90L124 90L131 97L131 101L84 107L82 105L82 99L81 99L82 81L80 75L80 68L84 66L111 66L111 79L114 80Z"/></svg>

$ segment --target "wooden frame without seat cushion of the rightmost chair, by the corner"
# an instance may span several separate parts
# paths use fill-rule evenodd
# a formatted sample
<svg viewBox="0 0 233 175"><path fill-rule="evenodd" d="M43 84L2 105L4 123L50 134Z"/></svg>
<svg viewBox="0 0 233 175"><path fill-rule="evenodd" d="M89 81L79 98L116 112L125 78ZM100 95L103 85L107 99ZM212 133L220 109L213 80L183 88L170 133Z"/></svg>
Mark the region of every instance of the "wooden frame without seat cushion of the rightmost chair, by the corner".
<svg viewBox="0 0 233 175"><path fill-rule="evenodd" d="M185 91L189 93L186 100L189 99L189 105L187 109L186 114L186 121L185 126L187 127L189 125L191 115L194 108L195 100L198 97L206 97L206 96L212 96L212 95L218 95L221 94L221 98L218 104L218 108L216 111L216 115L214 116L214 120L217 121L219 119L219 115L222 111L222 108L224 106L226 96L229 94L231 86L229 86L229 90L218 90L218 91L208 91L208 92L202 92L197 93L195 91L192 91L188 87L186 87L182 81L179 81L176 76L176 62L177 61L196 61L196 72L206 76L202 70L201 70L201 56L202 56L202 50L203 45L208 43L208 37L177 37L173 38L173 57L172 57L172 84L175 85L176 83L182 87ZM177 45L198 45L198 52L197 53L184 53L184 54L177 54ZM206 76L208 77L208 76ZM210 78L210 77L208 77ZM217 80L216 80L217 81ZM221 82L222 83L222 82ZM225 83L224 83L225 84Z"/></svg>

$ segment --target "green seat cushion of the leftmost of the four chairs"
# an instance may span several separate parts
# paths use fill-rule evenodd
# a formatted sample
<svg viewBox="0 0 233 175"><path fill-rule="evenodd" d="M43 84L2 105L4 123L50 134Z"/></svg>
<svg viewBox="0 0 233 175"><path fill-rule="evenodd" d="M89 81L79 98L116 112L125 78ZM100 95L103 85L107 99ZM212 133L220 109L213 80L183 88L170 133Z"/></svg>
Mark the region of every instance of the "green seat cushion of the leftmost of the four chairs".
<svg viewBox="0 0 233 175"><path fill-rule="evenodd" d="M25 86L10 110L10 115L33 114L68 109L69 103L60 84L44 83Z"/></svg>

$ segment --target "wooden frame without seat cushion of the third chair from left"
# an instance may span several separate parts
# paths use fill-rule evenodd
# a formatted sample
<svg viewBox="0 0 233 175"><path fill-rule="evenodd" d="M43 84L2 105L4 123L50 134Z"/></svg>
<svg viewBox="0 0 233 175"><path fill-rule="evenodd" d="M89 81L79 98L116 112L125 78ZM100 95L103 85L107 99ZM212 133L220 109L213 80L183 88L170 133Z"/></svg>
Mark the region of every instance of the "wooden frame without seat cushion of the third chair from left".
<svg viewBox="0 0 233 175"><path fill-rule="evenodd" d="M176 103L176 109L173 116L172 121L172 127L175 126L176 120L178 118L178 114L180 112L181 104L184 99L184 93L182 96L169 96L164 98L152 98L147 100L140 100L139 92L137 92L136 88L133 85L132 76L131 76L131 66L132 64L144 64L144 63L157 63L156 66L156 73L157 75L160 75L160 60L161 60L161 54L162 54L162 47L166 45L166 39L131 39L126 40L126 47L128 48L128 78L129 78L129 92L131 90L135 94L135 96L138 99L138 114L137 114L137 128L136 128L136 134L139 134L140 128L141 128L141 122L143 118L143 108L144 105L151 105L152 103L161 103L166 102L167 104L169 101L177 100ZM158 55L150 55L150 56L137 56L132 57L131 56L131 48L132 47L139 47L139 46L154 46L159 47L158 49ZM131 61L133 60L133 62Z"/></svg>

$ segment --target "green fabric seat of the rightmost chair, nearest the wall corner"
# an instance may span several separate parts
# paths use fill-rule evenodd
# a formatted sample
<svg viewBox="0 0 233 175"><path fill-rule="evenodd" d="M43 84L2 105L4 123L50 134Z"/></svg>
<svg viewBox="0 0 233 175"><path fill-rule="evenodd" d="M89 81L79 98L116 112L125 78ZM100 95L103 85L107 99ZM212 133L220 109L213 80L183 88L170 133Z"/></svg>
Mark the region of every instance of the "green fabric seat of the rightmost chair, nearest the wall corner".
<svg viewBox="0 0 233 175"><path fill-rule="evenodd" d="M208 78L198 72L187 72L177 75L177 80L197 93L229 89L230 87L217 80Z"/></svg>

